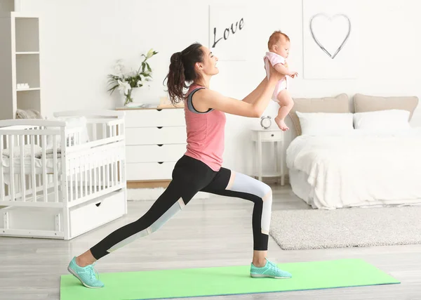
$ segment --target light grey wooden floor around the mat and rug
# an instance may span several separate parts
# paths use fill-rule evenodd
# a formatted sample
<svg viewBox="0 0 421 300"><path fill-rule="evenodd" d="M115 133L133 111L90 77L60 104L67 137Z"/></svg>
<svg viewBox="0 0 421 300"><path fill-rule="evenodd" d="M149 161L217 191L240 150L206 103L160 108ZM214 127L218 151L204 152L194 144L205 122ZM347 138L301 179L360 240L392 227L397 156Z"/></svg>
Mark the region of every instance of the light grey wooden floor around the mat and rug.
<svg viewBox="0 0 421 300"><path fill-rule="evenodd" d="M273 190L273 210L309 209L289 185L274 185ZM138 219L151 204L129 202L127 216L71 241L0 237L0 299L60 299L60 275L67 274L69 260L112 230ZM250 202L227 197L192 200L161 230L105 256L96 268L101 273L248 265L252 209ZM200 299L421 299L421 245L284 251L269 237L268 258L276 263L365 259L402 283Z"/></svg>

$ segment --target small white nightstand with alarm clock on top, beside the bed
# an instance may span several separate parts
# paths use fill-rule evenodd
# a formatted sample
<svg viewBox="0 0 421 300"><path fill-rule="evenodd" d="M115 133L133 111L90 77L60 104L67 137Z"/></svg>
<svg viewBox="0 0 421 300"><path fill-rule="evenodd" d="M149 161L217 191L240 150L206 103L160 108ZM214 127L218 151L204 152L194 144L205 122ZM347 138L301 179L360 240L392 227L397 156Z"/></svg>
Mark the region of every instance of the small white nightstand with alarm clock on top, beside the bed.
<svg viewBox="0 0 421 300"><path fill-rule="evenodd" d="M285 183L283 172L283 131L279 129L252 129L251 140L254 142L254 160L255 174L258 180L262 177L281 177L281 185ZM276 165L274 172L262 173L262 145L263 143L273 143L274 163Z"/></svg>

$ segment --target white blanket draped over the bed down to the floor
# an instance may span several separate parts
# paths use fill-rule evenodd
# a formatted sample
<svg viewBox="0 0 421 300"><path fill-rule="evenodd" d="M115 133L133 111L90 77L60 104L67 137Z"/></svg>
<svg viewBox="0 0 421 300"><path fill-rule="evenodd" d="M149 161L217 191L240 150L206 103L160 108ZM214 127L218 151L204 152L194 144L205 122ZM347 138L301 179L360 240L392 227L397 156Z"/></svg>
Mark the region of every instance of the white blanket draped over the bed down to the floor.
<svg viewBox="0 0 421 300"><path fill-rule="evenodd" d="M298 136L286 164L307 174L314 208L413 202L421 198L421 129Z"/></svg>

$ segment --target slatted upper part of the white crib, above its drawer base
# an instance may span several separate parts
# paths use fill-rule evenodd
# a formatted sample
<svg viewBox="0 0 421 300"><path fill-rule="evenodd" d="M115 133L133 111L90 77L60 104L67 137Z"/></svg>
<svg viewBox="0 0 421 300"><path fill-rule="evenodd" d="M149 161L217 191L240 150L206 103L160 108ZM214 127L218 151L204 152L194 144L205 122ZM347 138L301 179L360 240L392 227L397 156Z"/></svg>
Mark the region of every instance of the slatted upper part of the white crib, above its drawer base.
<svg viewBox="0 0 421 300"><path fill-rule="evenodd" d="M1 126L0 205L73 206L126 185L121 112L89 118L88 142L65 122L16 119Z"/></svg>

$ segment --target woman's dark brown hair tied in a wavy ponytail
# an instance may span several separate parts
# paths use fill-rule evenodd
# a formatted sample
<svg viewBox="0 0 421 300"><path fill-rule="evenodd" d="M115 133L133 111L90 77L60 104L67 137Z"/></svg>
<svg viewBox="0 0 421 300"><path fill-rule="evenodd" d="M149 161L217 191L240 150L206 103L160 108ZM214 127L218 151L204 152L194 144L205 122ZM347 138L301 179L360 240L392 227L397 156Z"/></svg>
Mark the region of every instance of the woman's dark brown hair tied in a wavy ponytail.
<svg viewBox="0 0 421 300"><path fill-rule="evenodd" d="M173 105L185 100L184 89L188 87L187 82L198 78L194 65L201 62L203 62L203 51L199 43L192 44L171 56L166 86Z"/></svg>

